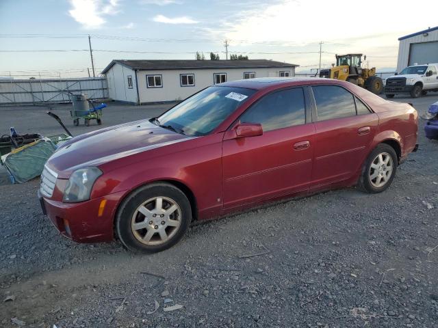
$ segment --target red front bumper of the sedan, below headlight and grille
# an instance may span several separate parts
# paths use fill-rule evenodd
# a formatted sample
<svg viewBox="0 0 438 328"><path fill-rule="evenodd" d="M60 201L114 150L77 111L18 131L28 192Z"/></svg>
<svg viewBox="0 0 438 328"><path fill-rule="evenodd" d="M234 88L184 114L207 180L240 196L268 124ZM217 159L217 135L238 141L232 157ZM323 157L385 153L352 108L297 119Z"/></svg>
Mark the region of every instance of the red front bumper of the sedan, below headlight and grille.
<svg viewBox="0 0 438 328"><path fill-rule="evenodd" d="M114 217L124 193L121 191L79 203L47 199L39 191L38 198L43 213L47 213L60 234L78 243L94 243L114 239ZM105 207L99 213L104 200Z"/></svg>

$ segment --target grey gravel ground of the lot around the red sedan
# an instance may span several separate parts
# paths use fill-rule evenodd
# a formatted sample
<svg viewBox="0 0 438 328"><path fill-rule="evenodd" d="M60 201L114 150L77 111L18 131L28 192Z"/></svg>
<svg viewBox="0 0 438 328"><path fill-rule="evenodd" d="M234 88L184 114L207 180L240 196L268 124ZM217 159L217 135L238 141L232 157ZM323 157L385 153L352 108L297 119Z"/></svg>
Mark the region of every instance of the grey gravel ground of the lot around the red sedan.
<svg viewBox="0 0 438 328"><path fill-rule="evenodd" d="M423 112L437 98L395 100ZM121 108L104 122L164 109ZM0 131L17 110L19 131L44 125L28 118L43 109L0 109ZM153 255L70 242L40 213L38 180L0 186L0 293L13 299L0 300L0 325L437 327L438 142L423 125L384 193L342 189L210 221Z"/></svg>

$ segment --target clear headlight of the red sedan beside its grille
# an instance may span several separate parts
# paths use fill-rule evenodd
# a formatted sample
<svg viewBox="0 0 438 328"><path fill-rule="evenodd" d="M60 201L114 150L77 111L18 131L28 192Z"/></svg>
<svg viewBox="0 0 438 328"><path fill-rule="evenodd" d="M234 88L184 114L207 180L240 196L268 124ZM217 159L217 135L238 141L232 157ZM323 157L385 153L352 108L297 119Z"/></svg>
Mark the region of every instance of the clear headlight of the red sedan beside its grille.
<svg viewBox="0 0 438 328"><path fill-rule="evenodd" d="M89 200L93 184L101 175L97 167L77 169L68 179L62 200L68 203Z"/></svg>

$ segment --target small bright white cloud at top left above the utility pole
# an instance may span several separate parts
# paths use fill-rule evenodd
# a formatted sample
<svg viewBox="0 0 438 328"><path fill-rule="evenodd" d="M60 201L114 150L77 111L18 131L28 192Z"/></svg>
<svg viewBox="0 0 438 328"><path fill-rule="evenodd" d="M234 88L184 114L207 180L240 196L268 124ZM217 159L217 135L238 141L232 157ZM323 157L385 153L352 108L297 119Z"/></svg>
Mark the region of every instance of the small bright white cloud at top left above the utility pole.
<svg viewBox="0 0 438 328"><path fill-rule="evenodd" d="M99 29L105 16L119 12L119 0L70 0L70 5L68 14L86 29Z"/></svg>

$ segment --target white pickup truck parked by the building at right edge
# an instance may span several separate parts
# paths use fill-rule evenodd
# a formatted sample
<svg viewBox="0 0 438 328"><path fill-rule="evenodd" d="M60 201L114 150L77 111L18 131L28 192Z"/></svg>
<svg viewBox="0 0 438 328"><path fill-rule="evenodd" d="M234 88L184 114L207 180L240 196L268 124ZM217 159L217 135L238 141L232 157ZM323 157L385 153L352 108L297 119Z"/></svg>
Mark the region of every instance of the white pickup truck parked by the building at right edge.
<svg viewBox="0 0 438 328"><path fill-rule="evenodd" d="M410 94L418 98L429 91L438 91L438 64L416 65L404 68L400 74L388 77L385 95L394 98L395 94Z"/></svg>

